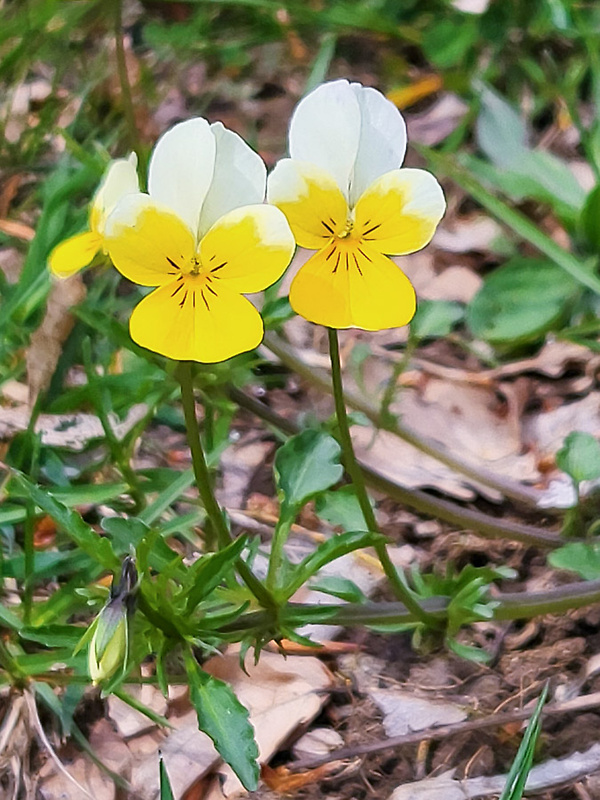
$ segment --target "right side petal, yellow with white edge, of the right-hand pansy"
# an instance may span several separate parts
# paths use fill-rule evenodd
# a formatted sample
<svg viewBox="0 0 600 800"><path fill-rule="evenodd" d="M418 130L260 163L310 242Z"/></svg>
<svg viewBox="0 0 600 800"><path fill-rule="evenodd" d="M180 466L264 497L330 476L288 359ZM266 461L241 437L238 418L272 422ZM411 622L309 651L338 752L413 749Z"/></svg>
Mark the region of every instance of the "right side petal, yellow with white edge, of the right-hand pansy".
<svg viewBox="0 0 600 800"><path fill-rule="evenodd" d="M430 172L395 169L360 197L355 235L380 253L414 253L431 241L445 210L442 187Z"/></svg>

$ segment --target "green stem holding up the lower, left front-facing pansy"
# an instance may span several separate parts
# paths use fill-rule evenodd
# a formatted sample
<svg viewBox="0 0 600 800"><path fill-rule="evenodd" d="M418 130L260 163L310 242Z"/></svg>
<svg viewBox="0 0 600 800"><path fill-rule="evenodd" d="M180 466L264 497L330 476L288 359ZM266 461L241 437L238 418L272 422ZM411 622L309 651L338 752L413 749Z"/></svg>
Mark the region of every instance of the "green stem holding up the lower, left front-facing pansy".
<svg viewBox="0 0 600 800"><path fill-rule="evenodd" d="M176 377L181 386L181 402L183 405L188 444L192 454L192 466L196 478L196 486L198 487L198 493L206 515L217 538L219 549L222 549L227 547L231 542L231 535L221 507L214 495L210 472L206 463L206 458L204 457L204 449L202 448L202 441L200 439L200 429L196 418L192 362L180 362L177 365ZM242 580L256 599L266 608L273 608L275 602L270 592L265 589L254 573L248 568L248 565L242 561L242 559L238 559L236 566Z"/></svg>

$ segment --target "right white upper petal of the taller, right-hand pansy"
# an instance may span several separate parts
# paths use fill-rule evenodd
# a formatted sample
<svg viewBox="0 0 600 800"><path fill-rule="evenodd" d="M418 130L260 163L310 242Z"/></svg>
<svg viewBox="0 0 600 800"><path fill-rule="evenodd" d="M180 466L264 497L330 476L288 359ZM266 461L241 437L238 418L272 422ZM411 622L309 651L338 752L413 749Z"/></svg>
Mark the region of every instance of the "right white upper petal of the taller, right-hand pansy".
<svg viewBox="0 0 600 800"><path fill-rule="evenodd" d="M350 204L380 175L397 169L406 153L406 123L377 89L351 84L361 114L360 140L350 187Z"/></svg>

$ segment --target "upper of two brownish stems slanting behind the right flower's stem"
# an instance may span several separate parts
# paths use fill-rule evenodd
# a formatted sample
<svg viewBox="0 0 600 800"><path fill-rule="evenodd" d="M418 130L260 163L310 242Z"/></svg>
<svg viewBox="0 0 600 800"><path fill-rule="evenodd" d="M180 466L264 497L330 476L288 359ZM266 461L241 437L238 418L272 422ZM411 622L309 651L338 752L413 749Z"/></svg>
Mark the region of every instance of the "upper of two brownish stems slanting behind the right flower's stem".
<svg viewBox="0 0 600 800"><path fill-rule="evenodd" d="M324 391L331 391L331 382L327 372L306 364L299 358L294 348L284 342L280 336L267 333L265 335L264 344L283 364L300 375L300 377L304 378L304 380L308 381L313 386L318 386ZM523 505L535 507L537 496L534 490L528 489L525 486L520 486L515 481L508 480L500 475L496 475L482 465L470 464L460 456L451 453L443 445L440 445L433 439L421 436L421 434L416 431L407 428L396 418L382 419L379 409L357 392L346 389L344 397L349 406L356 411L361 411L377 428L395 434L400 437L400 439L408 442L408 444L416 447L417 450L420 450L422 453L435 458L437 461L441 461L442 464L446 464L446 466L451 469L472 478L478 483L482 483L484 486L489 486L491 489L501 492L505 497ZM544 509L544 512L547 514L553 513L552 509Z"/></svg>

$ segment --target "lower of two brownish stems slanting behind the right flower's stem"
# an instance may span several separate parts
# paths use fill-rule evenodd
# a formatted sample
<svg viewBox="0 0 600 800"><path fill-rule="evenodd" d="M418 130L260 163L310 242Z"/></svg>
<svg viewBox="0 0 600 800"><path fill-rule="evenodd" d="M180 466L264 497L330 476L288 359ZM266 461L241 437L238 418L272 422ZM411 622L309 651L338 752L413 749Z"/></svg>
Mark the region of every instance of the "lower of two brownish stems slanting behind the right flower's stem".
<svg viewBox="0 0 600 800"><path fill-rule="evenodd" d="M280 416L269 406L254 397L249 397L240 389L231 387L229 396L239 406L260 417L277 431L283 431L290 436L298 433L296 423ZM369 486L385 492L394 500L398 500L398 502L414 508L422 514L428 514L449 522L459 530L473 530L489 539L512 539L516 542L523 542L524 544L544 549L560 547L564 544L557 534L537 528L534 525L523 525L518 522L509 522L497 517L490 517L481 511L463 508L450 500L440 500L433 495L419 491L419 489L405 489L368 467L362 467L362 471Z"/></svg>

